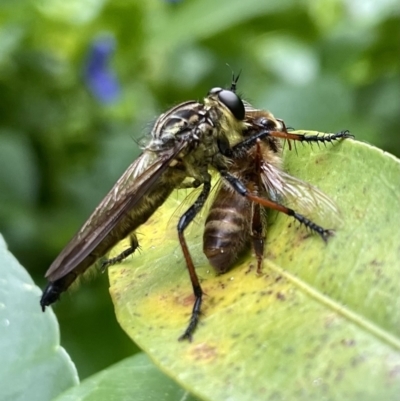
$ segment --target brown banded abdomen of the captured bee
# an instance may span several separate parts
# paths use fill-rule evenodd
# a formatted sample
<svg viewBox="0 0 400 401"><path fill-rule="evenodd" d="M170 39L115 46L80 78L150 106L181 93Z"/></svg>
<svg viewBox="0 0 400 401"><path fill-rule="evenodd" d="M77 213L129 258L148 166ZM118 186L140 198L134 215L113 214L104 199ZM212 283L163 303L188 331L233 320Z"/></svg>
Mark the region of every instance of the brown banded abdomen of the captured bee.
<svg viewBox="0 0 400 401"><path fill-rule="evenodd" d="M243 202L241 196L237 200L250 209L248 202ZM249 234L247 211L241 210L237 202L231 207L224 206L214 205L211 208L203 236L204 254L218 273L224 273L232 267L246 247Z"/></svg>

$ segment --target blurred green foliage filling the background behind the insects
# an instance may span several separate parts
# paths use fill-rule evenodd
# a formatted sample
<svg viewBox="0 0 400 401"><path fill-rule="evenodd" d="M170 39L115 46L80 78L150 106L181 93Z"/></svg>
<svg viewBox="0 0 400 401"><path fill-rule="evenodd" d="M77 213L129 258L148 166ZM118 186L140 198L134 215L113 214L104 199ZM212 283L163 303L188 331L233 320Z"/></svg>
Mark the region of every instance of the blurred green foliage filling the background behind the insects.
<svg viewBox="0 0 400 401"><path fill-rule="evenodd" d="M115 44L111 100L87 74L99 38ZM2 0L0 230L44 285L148 122L228 86L227 63L242 70L239 91L288 126L349 129L400 156L399 47L396 0ZM84 287L55 308L82 378L134 352L105 276Z"/></svg>

